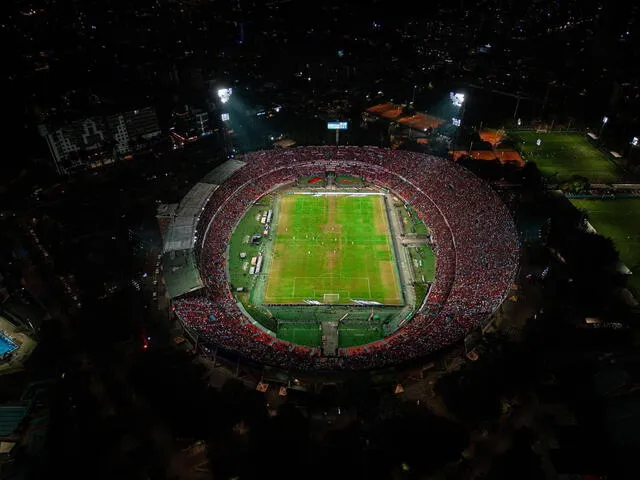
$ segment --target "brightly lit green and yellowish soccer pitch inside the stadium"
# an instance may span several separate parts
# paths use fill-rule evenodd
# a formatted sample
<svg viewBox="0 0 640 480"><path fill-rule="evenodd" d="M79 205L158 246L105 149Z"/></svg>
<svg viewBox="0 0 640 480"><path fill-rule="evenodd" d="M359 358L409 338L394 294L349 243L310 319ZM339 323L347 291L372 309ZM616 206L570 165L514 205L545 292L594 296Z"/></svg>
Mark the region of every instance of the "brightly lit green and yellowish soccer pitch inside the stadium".
<svg viewBox="0 0 640 480"><path fill-rule="evenodd" d="M264 303L403 303L381 195L286 194Z"/></svg>

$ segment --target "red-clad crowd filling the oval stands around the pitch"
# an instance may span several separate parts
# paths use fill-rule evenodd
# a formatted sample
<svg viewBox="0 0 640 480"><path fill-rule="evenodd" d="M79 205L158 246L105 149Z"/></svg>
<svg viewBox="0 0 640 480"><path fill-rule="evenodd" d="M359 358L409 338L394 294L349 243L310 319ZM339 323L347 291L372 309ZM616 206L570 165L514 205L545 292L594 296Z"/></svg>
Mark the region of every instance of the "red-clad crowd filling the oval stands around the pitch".
<svg viewBox="0 0 640 480"><path fill-rule="evenodd" d="M455 342L500 305L518 266L511 215L491 188L459 165L428 155L376 147L300 147L247 154L246 165L207 202L195 252L205 289L174 301L182 321L206 342L252 360L298 370L382 367ZM429 226L436 275L420 311L385 339L319 348L277 339L248 319L233 297L227 244L249 206L266 192L306 175L332 171L360 176L409 203Z"/></svg>

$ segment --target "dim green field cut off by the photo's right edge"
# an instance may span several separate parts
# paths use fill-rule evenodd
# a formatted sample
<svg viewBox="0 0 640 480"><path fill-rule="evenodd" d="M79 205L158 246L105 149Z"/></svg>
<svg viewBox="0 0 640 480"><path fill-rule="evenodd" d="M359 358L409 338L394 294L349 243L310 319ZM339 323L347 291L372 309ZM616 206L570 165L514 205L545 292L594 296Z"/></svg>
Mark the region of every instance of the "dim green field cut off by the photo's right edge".
<svg viewBox="0 0 640 480"><path fill-rule="evenodd" d="M589 223L599 234L613 239L620 260L633 272L630 285L640 290L640 199L572 199L571 203L589 212Z"/></svg>

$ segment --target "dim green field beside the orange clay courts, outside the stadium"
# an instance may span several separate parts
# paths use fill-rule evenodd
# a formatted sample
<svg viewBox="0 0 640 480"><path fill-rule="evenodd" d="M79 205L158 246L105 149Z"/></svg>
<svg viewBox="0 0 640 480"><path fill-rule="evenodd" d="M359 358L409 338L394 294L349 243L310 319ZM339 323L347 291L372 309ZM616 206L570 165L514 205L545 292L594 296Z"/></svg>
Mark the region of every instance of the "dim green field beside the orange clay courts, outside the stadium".
<svg viewBox="0 0 640 480"><path fill-rule="evenodd" d="M545 176L557 174L560 182L573 175L586 177L591 183L612 183L624 177L624 172L580 133L518 131L511 136L520 141L526 161L535 162ZM540 146L536 145L538 138Z"/></svg>

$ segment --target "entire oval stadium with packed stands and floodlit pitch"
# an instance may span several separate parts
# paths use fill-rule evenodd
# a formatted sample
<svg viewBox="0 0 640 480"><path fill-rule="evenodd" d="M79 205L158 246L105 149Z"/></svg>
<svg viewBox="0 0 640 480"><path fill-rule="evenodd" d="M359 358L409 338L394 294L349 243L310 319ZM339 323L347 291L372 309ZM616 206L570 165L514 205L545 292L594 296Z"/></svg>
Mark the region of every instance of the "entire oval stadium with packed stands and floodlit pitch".
<svg viewBox="0 0 640 480"><path fill-rule="evenodd" d="M459 165L376 147L217 167L164 235L172 309L199 350L293 371L377 369L482 326L518 268L507 207Z"/></svg>

